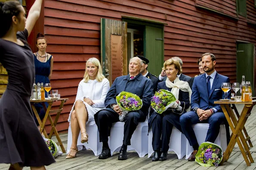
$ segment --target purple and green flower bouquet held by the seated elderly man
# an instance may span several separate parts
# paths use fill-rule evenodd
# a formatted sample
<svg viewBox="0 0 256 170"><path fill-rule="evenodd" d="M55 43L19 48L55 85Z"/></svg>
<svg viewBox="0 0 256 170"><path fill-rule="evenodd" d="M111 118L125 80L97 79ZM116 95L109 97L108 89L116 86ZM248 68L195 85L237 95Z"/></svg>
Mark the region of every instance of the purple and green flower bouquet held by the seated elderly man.
<svg viewBox="0 0 256 170"><path fill-rule="evenodd" d="M142 100L138 95L131 92L120 92L116 97L116 101L120 109L123 110L123 113L119 115L120 121L124 120L129 111L140 110L142 107Z"/></svg>

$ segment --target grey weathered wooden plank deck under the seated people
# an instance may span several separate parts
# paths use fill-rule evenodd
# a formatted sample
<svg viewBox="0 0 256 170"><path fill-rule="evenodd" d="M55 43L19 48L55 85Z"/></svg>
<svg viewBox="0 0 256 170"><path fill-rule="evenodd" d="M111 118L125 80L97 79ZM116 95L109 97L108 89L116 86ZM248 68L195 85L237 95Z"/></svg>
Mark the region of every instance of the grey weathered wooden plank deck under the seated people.
<svg viewBox="0 0 256 170"><path fill-rule="evenodd" d="M239 104L240 105L240 104ZM237 109L240 111L242 107L237 105ZM253 159L256 161L256 107L253 108L251 116L247 120L246 128L249 136L251 137L253 148ZM62 141L67 146L67 134L61 135ZM53 138L56 141L56 138ZM138 154L133 151L127 153L128 159L125 161L118 161L118 153L105 160L99 160L97 156L94 156L90 150L80 151L77 154L77 158L65 159L65 155L56 158L56 163L46 167L47 170L254 170L256 169L256 163L247 167L244 162L243 155L241 154L238 146L236 145L231 153L228 162L219 167L201 167L196 162L187 161L185 158L178 159L174 152L169 152L166 161L152 162L151 158L147 155L144 158L139 158ZM7 170L9 165L0 164L0 170ZM25 167L24 170L28 170Z"/></svg>

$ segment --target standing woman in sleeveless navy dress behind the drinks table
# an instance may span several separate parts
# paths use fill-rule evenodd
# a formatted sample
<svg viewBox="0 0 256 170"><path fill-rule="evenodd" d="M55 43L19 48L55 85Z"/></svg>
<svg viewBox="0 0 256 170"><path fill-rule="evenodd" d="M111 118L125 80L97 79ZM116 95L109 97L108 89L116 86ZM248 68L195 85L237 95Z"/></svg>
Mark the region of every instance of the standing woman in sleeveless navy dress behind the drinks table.
<svg viewBox="0 0 256 170"><path fill-rule="evenodd" d="M52 77L52 68L53 68L53 57L51 54L46 53L47 41L43 34L37 34L37 42L36 42L38 51L34 53L34 63L35 63L35 83L50 83ZM50 93L50 92L49 92ZM47 96L47 92L45 91L45 96ZM48 107L48 103L45 102L46 108ZM40 119L43 119L46 113L43 105L41 103L34 104L37 109L37 113L39 114ZM37 118L34 116L35 122L37 122Z"/></svg>

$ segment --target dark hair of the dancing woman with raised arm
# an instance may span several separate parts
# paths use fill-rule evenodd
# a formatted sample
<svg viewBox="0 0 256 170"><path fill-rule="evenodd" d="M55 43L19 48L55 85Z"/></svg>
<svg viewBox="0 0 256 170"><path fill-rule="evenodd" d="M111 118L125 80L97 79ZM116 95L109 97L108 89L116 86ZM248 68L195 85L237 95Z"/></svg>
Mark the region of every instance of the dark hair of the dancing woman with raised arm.
<svg viewBox="0 0 256 170"><path fill-rule="evenodd" d="M19 1L10 0L5 3L0 2L0 38L6 35L12 26L12 16L19 18L21 10Z"/></svg>

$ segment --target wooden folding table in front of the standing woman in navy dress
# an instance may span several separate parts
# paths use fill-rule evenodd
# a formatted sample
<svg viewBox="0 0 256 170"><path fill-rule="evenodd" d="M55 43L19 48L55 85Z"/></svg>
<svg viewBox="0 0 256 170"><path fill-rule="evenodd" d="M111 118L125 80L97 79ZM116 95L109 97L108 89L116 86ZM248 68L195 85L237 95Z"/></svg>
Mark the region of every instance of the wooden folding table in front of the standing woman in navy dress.
<svg viewBox="0 0 256 170"><path fill-rule="evenodd" d="M65 148L64 148L64 146L63 146L63 144L62 144L62 140L61 140L60 137L59 137L59 133L58 133L58 131L57 131L57 129L56 129L56 125L57 125L57 122L58 122L58 119L59 119L59 115L60 115L60 113L62 112L62 107L63 107L64 103L65 103L67 100L68 100L68 98L46 99L46 100L30 100L30 104L31 104L32 110L34 111L35 116L37 117L37 121L38 121L38 123L39 123L39 125L40 125L40 133L43 132L43 135L44 135L47 139L51 139L51 138L52 138L52 134L53 134L53 132L54 132L55 135L56 135L56 138L57 138L57 140L58 140L57 145L61 147L63 153L65 153L66 151L65 151ZM57 109L57 110L51 110L52 104L53 104L53 102L55 102L55 101L61 101L61 103L60 103L60 105L59 105L59 109ZM47 102L47 103L49 104L47 108L46 108L45 102ZM40 117L39 117L39 115L38 115L38 113L37 113L36 107L34 106L35 103L42 103L44 109L46 110L45 116L44 116L44 118L43 118L43 122L41 121L41 119L40 119ZM52 121L52 117L50 116L50 113L57 113L54 122ZM52 126L52 129L51 129L51 131L50 131L49 136L48 136L48 134L46 133L46 130L45 130L45 123L46 123L47 118L49 119L49 122L50 122L50 124L51 124L51 126Z"/></svg>

